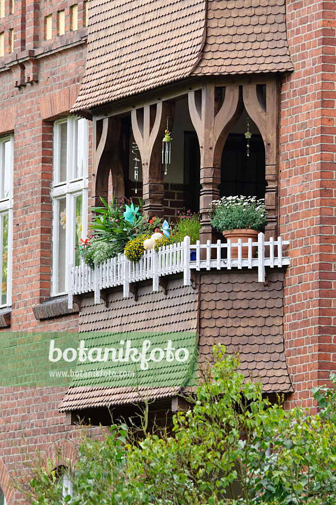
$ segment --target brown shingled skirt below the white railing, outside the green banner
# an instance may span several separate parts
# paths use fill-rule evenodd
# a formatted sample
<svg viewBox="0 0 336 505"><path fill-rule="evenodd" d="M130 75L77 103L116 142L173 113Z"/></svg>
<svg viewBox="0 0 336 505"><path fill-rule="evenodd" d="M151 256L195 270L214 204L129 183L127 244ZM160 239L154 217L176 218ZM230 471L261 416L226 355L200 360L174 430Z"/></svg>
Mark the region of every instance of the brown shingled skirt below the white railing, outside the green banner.
<svg viewBox="0 0 336 505"><path fill-rule="evenodd" d="M140 285L138 300L123 298L122 291L109 295L109 307L95 305L93 298L82 300L79 316L81 332L199 332L199 361L211 359L214 342L223 343L228 352L239 352L240 371L260 380L266 393L290 392L283 344L283 272L270 272L269 285L258 282L255 273L212 273L200 277L199 289L183 286L183 279L168 282L167 295ZM83 333L84 336L84 333ZM183 386L70 387L60 410L130 405L141 398L160 399L176 396ZM182 379L182 376L181 376ZM78 382L78 381L77 381ZM79 384L80 382L78 382Z"/></svg>

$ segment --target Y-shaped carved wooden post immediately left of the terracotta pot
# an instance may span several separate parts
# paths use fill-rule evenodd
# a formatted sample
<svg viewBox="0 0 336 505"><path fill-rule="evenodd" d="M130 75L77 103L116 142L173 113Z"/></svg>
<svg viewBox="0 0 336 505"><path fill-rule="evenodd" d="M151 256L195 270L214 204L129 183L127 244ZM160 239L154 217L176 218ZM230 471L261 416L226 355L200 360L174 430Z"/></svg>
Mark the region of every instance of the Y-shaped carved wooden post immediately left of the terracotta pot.
<svg viewBox="0 0 336 505"><path fill-rule="evenodd" d="M197 91L188 93L190 118L197 133L200 148L199 208L202 229L200 241L212 240L215 235L209 220L212 200L218 199L221 182L221 158L225 140L242 112L239 85L226 86L221 104L222 90L214 82L202 86L201 96Z"/></svg>

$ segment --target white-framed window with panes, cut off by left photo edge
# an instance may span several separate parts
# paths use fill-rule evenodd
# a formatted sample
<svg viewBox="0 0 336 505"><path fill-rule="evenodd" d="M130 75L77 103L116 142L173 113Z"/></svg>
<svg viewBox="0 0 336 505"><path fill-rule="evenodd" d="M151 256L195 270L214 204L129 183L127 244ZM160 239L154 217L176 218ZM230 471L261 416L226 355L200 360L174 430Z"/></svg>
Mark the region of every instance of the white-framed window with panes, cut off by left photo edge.
<svg viewBox="0 0 336 505"><path fill-rule="evenodd" d="M0 137L0 307L12 305L13 135Z"/></svg>

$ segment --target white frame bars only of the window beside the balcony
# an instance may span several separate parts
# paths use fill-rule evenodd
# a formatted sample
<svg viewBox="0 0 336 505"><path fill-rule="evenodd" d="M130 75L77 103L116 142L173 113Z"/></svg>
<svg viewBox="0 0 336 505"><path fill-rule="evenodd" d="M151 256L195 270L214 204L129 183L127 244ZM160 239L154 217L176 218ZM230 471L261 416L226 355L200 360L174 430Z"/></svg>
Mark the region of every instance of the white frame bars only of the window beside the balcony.
<svg viewBox="0 0 336 505"><path fill-rule="evenodd" d="M72 226L75 221L74 197L82 195L82 232L81 238L85 238L88 230L88 161L89 161L89 121L86 120L85 128L85 147L83 158L85 166L83 167L82 177L74 178L76 165L76 143L75 122L79 117L67 116L54 122L54 156L53 156L53 187L51 191L53 201L53 263L52 263L52 291L51 296L60 296L67 293L68 289L68 265L74 261L74 246L76 230ZM67 154L66 154L66 180L60 181L60 125L67 123ZM58 284L58 231L59 231L59 213L58 200L66 198L66 226L65 228L65 291L60 292L57 289ZM71 225L70 225L71 223Z"/></svg>

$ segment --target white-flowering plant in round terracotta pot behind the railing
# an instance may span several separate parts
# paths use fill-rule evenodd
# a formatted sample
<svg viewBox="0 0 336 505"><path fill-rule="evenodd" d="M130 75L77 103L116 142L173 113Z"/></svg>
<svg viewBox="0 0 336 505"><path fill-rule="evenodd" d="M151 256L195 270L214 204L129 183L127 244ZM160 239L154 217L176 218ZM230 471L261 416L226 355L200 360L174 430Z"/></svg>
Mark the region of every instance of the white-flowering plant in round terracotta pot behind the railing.
<svg viewBox="0 0 336 505"><path fill-rule="evenodd" d="M249 238L256 242L258 233L265 230L267 224L267 211L265 199L257 200L256 196L223 196L220 200L212 202L210 213L211 224L223 233L231 243L237 243L241 238L247 242ZM252 254L255 255L256 246ZM238 258L238 248L231 252L232 258ZM242 248L242 258L248 257L247 246Z"/></svg>

